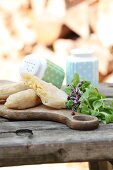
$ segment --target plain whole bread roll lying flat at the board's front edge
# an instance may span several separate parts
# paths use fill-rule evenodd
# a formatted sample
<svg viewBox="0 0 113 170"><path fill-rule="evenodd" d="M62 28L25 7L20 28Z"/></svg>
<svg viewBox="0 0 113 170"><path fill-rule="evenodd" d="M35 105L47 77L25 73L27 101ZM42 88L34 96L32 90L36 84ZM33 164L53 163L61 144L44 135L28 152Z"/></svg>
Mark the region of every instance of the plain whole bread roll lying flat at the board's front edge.
<svg viewBox="0 0 113 170"><path fill-rule="evenodd" d="M40 98L33 89L24 90L10 95L5 106L10 109L27 109L41 104Z"/></svg>

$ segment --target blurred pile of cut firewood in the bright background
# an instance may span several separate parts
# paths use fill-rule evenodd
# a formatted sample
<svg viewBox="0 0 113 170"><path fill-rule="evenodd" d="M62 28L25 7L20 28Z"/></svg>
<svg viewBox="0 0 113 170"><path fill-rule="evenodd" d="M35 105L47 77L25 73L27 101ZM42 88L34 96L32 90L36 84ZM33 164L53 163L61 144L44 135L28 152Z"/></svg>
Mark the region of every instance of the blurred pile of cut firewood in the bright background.
<svg viewBox="0 0 113 170"><path fill-rule="evenodd" d="M93 47L100 82L113 82L113 0L1 0L0 61L25 55L69 57Z"/></svg>

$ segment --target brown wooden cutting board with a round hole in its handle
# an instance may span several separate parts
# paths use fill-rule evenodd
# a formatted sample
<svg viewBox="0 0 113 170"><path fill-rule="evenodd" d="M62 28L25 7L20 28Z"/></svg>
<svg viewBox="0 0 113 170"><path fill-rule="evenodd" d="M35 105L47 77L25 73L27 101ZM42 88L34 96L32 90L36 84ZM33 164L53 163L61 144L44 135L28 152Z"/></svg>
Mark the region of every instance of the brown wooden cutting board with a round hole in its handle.
<svg viewBox="0 0 113 170"><path fill-rule="evenodd" d="M9 81L0 81L0 85L9 84ZM75 113L71 114L71 110L67 109L52 109L44 105L24 110L7 109L3 104L0 104L0 116L13 120L50 120L64 123L72 129L92 130L99 126L99 121L94 116Z"/></svg>

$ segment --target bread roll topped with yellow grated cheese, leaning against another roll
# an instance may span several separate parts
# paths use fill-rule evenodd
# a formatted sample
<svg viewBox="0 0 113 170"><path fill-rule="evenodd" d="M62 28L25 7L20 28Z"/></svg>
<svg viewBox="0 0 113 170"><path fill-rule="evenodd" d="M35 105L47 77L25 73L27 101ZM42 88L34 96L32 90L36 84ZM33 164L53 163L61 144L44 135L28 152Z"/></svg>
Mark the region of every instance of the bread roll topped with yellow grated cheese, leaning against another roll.
<svg viewBox="0 0 113 170"><path fill-rule="evenodd" d="M36 91L44 105L56 109L66 107L65 102L68 96L64 91L36 76L24 74L22 78L29 87Z"/></svg>

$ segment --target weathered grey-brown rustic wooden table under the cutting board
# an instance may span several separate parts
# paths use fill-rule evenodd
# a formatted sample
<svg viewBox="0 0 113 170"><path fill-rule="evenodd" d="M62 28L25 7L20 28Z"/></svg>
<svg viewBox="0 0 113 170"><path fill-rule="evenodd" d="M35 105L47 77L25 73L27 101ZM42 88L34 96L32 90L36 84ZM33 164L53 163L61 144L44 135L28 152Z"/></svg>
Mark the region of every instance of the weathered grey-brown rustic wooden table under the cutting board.
<svg viewBox="0 0 113 170"><path fill-rule="evenodd" d="M100 90L113 95L112 84ZM0 118L0 166L88 161L90 170L110 170L112 160L113 124L78 131L51 121Z"/></svg>

